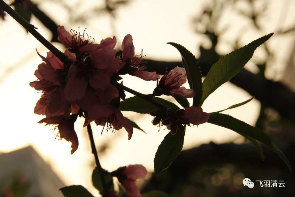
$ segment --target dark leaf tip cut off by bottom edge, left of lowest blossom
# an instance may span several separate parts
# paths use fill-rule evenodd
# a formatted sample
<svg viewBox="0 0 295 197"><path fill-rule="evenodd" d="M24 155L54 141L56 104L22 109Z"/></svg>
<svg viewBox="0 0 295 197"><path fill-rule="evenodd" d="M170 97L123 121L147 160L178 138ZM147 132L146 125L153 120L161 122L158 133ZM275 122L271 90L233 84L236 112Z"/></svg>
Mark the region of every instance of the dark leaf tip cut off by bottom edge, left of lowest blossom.
<svg viewBox="0 0 295 197"><path fill-rule="evenodd" d="M82 185L71 185L59 189L65 197L94 197Z"/></svg>

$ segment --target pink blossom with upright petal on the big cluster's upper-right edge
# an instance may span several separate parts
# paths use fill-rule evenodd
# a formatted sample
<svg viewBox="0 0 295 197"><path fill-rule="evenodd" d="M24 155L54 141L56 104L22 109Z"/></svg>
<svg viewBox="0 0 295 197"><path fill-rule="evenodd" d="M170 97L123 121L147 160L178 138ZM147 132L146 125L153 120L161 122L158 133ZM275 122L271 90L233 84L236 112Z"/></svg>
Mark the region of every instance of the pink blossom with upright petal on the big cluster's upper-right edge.
<svg viewBox="0 0 295 197"><path fill-rule="evenodd" d="M135 69L135 71L129 72L130 75L137 76L146 81L156 81L157 79L160 79L156 72L144 71L146 68L144 65L145 62L142 62L142 55L140 58L134 56L134 45L132 42L132 36L130 34L127 34L124 37L121 50L123 64Z"/></svg>

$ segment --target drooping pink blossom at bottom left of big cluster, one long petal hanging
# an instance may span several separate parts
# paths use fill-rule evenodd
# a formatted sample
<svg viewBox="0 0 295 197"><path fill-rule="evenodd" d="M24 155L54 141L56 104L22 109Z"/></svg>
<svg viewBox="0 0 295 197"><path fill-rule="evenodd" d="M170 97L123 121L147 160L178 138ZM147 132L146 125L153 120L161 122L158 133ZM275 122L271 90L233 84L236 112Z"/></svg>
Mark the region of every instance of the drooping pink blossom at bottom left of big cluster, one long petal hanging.
<svg viewBox="0 0 295 197"><path fill-rule="evenodd" d="M39 121L39 123L46 123L45 125L57 125L59 137L63 138L72 143L72 151L73 154L78 149L78 137L76 131L74 129L75 118L66 119L64 116L54 116L51 118L43 118Z"/></svg>

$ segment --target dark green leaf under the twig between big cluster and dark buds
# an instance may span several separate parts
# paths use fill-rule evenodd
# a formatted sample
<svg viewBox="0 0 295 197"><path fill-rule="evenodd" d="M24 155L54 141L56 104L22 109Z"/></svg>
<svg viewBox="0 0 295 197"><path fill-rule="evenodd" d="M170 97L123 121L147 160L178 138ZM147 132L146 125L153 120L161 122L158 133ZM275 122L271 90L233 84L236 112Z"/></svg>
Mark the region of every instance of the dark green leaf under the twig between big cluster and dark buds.
<svg viewBox="0 0 295 197"><path fill-rule="evenodd" d="M134 96L120 102L121 111L134 111L137 113L150 113L158 108L140 97Z"/></svg>

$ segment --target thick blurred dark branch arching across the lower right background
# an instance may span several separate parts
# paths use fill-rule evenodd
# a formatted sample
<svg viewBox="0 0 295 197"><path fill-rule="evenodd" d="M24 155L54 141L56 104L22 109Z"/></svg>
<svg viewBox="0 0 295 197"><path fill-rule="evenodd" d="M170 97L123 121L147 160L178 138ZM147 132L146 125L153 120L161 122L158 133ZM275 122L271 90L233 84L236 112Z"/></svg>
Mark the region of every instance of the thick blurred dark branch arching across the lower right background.
<svg viewBox="0 0 295 197"><path fill-rule="evenodd" d="M281 146L280 146L281 147ZM262 161L252 144L202 144L199 147L182 151L174 160L167 172L159 175L162 179L169 177L167 188L175 188L177 180L187 180L187 176L191 175L194 170L201 167L223 167L225 164L232 163L237 167L249 169L255 167L257 169L278 169L288 171L283 161L269 148L262 146L265 161ZM289 144L283 147L282 151L288 157L292 166L295 163L294 156L295 144ZM163 184L160 184L161 178L153 175L149 182L142 188L142 192L150 190L163 190ZM167 189L166 188L166 189ZM169 192L169 191L166 191Z"/></svg>

